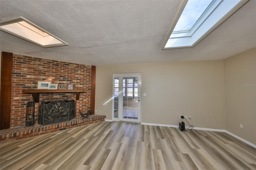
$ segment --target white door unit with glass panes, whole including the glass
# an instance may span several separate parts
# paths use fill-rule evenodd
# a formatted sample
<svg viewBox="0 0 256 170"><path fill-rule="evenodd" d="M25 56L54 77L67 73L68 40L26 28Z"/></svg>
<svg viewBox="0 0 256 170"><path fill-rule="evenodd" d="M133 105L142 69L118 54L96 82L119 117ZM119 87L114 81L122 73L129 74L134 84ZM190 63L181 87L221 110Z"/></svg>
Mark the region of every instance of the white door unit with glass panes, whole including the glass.
<svg viewBox="0 0 256 170"><path fill-rule="evenodd" d="M114 74L114 121L140 122L141 74Z"/></svg>

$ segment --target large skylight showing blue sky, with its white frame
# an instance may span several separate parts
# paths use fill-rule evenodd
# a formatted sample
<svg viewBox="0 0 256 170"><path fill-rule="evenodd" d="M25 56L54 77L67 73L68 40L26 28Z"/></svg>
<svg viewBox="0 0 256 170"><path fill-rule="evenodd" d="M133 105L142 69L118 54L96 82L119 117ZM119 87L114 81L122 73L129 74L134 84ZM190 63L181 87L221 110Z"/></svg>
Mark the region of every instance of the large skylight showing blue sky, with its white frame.
<svg viewBox="0 0 256 170"><path fill-rule="evenodd" d="M246 2L248 0L185 0L162 49L194 47Z"/></svg>

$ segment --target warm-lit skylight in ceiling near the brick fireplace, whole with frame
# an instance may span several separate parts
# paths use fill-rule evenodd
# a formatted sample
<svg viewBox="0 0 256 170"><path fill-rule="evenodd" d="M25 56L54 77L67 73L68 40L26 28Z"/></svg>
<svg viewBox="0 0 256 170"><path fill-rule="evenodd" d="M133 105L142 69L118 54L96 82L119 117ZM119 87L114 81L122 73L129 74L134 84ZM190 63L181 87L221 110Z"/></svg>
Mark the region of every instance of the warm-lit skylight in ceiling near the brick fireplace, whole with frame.
<svg viewBox="0 0 256 170"><path fill-rule="evenodd" d="M44 48L68 45L22 17L1 21L0 30Z"/></svg>

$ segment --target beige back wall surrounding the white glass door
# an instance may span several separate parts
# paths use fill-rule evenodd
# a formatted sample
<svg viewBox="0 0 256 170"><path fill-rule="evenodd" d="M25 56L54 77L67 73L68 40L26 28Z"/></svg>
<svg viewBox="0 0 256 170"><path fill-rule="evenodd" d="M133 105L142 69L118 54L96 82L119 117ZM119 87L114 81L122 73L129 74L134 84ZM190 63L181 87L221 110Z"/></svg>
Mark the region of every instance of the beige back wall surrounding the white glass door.
<svg viewBox="0 0 256 170"><path fill-rule="evenodd" d="M178 125L187 115L196 127L225 129L223 60L97 66L95 109L106 119L113 73L142 73L143 123Z"/></svg>

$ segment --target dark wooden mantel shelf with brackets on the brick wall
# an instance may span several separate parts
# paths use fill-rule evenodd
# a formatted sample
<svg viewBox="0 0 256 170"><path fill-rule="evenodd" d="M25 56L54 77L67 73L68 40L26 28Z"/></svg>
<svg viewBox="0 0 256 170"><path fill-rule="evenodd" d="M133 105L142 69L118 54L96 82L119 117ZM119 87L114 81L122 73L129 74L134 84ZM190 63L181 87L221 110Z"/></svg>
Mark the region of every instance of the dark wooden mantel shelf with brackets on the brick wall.
<svg viewBox="0 0 256 170"><path fill-rule="evenodd" d="M76 93L76 100L79 100L80 93L84 93L82 89L58 89L58 90L49 90L49 89L23 89L22 93L31 93L35 103L39 103L39 94L40 93Z"/></svg>

